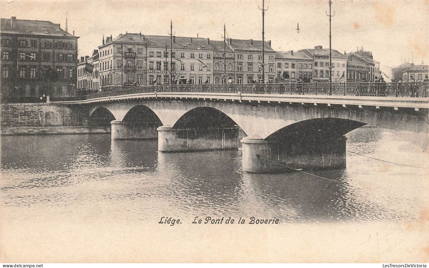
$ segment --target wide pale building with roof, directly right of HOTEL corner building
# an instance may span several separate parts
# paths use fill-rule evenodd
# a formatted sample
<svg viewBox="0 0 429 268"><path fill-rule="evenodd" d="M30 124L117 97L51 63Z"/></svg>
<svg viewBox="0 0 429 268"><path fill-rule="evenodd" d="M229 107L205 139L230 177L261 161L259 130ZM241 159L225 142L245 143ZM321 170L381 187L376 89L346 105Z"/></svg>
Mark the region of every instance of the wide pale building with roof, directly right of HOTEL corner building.
<svg viewBox="0 0 429 268"><path fill-rule="evenodd" d="M145 35L144 40L148 50L147 84L169 84L170 74L173 80L186 79L190 84L212 83L213 48L204 38Z"/></svg>

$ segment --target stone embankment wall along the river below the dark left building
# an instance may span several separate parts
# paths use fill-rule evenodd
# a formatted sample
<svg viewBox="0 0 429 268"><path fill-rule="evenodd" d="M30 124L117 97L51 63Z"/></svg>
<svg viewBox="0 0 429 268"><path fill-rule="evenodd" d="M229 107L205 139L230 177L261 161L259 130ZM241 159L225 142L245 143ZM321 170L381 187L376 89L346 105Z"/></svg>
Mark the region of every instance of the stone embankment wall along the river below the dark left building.
<svg viewBox="0 0 429 268"><path fill-rule="evenodd" d="M86 108L47 103L1 105L2 135L110 133L110 126L88 126Z"/></svg>

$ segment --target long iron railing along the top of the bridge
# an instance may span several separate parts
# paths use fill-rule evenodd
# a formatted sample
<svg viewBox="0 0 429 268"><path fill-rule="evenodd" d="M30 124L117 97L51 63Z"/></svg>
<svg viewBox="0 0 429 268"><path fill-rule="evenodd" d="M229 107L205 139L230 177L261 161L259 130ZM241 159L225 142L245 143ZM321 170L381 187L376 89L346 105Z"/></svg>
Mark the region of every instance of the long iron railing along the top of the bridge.
<svg viewBox="0 0 429 268"><path fill-rule="evenodd" d="M52 97L51 101L72 101L120 96L136 93L250 93L250 94L290 94L290 95L341 95L341 96L387 96L387 97L428 97L429 82L394 83L288 83L288 84L172 84L133 87L124 90L107 91L85 96Z"/></svg>

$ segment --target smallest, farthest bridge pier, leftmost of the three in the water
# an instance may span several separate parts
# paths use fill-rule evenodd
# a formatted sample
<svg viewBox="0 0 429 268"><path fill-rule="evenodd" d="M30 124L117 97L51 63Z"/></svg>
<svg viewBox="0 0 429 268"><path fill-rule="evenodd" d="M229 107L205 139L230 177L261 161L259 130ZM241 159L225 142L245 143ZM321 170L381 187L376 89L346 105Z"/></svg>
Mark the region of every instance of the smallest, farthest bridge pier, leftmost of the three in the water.
<svg viewBox="0 0 429 268"><path fill-rule="evenodd" d="M157 127L118 120L110 122L112 140L157 139Z"/></svg>

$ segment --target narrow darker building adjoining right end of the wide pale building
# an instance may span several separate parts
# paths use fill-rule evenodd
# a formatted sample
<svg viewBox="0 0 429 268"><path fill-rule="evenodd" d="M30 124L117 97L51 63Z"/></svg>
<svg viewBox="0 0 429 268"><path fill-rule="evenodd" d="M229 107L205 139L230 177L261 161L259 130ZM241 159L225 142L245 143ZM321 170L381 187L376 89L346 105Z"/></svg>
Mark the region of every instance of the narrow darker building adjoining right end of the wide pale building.
<svg viewBox="0 0 429 268"><path fill-rule="evenodd" d="M228 81L242 84L242 79L240 81L235 80L236 65L234 51L224 41L214 41L207 38L206 43L213 48L213 84L225 84ZM224 48L226 52L225 60Z"/></svg>

